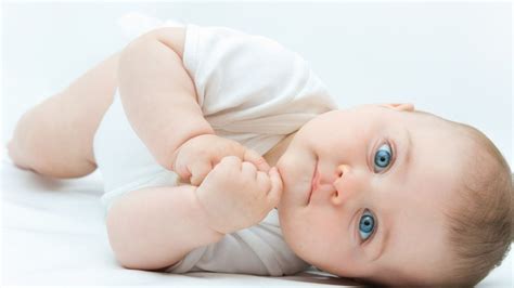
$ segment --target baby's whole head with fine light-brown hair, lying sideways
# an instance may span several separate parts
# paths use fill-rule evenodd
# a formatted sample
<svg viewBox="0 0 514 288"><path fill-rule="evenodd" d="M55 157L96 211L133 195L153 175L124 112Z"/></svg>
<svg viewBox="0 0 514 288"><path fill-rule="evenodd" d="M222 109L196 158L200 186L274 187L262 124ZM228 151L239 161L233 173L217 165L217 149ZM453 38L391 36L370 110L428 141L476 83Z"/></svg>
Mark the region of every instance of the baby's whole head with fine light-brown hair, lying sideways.
<svg viewBox="0 0 514 288"><path fill-rule="evenodd" d="M512 240L512 180L501 153L476 129L409 104L320 115L277 167L285 240L335 275L468 286Z"/></svg>

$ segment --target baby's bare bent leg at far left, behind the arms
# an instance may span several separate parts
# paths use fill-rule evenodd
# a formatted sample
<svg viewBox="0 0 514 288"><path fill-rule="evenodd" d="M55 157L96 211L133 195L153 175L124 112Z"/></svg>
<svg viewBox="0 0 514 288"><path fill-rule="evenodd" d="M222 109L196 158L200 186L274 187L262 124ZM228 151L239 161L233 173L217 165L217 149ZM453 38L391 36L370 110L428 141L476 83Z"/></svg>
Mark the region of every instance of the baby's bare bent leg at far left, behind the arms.
<svg viewBox="0 0 514 288"><path fill-rule="evenodd" d="M8 144L16 166L53 178L85 176L97 169L93 136L118 83L118 55L22 116Z"/></svg>

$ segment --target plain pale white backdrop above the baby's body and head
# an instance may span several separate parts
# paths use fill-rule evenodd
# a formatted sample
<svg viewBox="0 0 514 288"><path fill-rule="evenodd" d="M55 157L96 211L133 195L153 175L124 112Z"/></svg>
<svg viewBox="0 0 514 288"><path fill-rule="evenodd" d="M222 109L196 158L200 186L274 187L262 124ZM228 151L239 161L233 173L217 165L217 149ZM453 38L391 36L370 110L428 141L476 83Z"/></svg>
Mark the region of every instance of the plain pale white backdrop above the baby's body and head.
<svg viewBox="0 0 514 288"><path fill-rule="evenodd" d="M512 163L509 2L8 2L3 143L24 110L127 43L116 22L131 11L273 38L312 64L342 108L412 102L477 127Z"/></svg>

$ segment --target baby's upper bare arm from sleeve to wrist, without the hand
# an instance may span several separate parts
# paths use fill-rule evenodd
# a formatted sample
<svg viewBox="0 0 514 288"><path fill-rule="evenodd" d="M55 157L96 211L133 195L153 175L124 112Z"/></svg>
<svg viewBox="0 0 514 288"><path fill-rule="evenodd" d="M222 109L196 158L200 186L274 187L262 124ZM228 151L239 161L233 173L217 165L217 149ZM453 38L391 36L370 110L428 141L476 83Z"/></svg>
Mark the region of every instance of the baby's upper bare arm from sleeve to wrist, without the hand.
<svg viewBox="0 0 514 288"><path fill-rule="evenodd" d="M184 28L155 29L127 45L118 68L127 118L157 162L168 170L181 144L215 133L203 117L193 81L182 64L184 39Z"/></svg>

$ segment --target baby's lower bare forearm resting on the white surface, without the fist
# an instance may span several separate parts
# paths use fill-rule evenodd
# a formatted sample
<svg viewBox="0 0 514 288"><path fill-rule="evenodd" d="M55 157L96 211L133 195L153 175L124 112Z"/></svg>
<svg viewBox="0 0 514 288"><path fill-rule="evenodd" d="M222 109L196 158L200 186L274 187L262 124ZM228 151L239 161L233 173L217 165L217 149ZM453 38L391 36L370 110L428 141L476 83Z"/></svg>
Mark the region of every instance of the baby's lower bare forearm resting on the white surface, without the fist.
<svg viewBox="0 0 514 288"><path fill-rule="evenodd" d="M124 195L106 225L117 260L128 269L158 270L193 249L219 241L191 185L147 187Z"/></svg>

